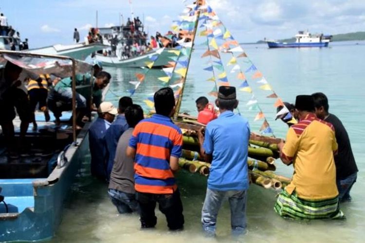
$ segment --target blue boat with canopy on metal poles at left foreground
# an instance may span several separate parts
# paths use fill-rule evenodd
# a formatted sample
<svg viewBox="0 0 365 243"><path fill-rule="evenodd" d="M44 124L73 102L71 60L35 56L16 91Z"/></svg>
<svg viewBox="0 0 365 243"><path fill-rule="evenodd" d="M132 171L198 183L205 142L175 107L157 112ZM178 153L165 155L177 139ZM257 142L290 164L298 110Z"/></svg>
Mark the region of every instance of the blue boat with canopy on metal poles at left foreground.
<svg viewBox="0 0 365 243"><path fill-rule="evenodd" d="M47 71L61 78L92 69L91 65L66 56L0 51L0 65L6 62L35 75ZM86 122L80 131L75 130L76 88L73 83L72 112L63 116L69 120L73 115L72 128L69 121L60 126L38 121L37 131L28 131L25 137L27 144L31 144L28 155L18 158L7 156L7 141L0 136L0 242L39 241L55 234L63 203L88 153L86 138L91 122ZM80 88L91 90L91 83ZM13 123L17 139L18 117Z"/></svg>

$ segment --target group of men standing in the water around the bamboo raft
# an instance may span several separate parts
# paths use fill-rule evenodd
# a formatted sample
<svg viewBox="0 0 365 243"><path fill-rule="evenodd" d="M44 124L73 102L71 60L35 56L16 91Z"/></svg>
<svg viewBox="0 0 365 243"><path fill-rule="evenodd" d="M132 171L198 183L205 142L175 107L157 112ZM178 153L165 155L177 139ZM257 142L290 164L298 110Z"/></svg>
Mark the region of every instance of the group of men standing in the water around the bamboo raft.
<svg viewBox="0 0 365 243"><path fill-rule="evenodd" d="M174 92L165 87L154 94L156 114L145 118L140 105L122 97L118 108L104 102L90 128L91 173L109 182L111 203L120 214L137 212L141 228L156 226L156 203L170 230L184 225L183 203L174 174L182 156L183 134L171 120ZM196 100L198 112L207 108L206 97ZM214 236L219 208L228 198L234 235L246 231L247 191L251 183L247 158L250 125L233 111L238 100L235 87L219 87L213 116L198 131L200 156L210 163L201 224ZM347 131L329 113L325 94L298 95L285 103L295 119L279 116L289 125L286 140L278 144L280 158L292 165L291 183L279 194L274 211L293 219L343 219L340 203L351 200L357 166ZM115 119L116 117L116 119Z"/></svg>

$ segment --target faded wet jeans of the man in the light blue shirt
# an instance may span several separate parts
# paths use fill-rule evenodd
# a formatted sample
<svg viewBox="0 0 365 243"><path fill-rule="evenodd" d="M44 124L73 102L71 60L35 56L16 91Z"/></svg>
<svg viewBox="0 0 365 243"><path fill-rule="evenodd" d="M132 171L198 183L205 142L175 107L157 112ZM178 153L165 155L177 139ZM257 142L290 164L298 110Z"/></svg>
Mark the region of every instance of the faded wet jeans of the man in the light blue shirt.
<svg viewBox="0 0 365 243"><path fill-rule="evenodd" d="M246 223L246 191L216 191L207 188L203 209L201 210L201 224L208 236L215 235L217 215L224 198L228 197L231 207L232 234L245 233Z"/></svg>

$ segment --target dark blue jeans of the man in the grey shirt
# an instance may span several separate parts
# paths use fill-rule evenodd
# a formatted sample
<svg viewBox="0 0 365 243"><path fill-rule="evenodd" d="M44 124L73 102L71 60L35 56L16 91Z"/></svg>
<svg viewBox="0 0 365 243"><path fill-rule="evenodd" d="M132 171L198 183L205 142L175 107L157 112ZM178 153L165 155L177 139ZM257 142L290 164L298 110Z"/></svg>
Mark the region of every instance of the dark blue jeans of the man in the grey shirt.
<svg viewBox="0 0 365 243"><path fill-rule="evenodd" d="M139 211L136 195L114 189L109 189L111 202L117 207L119 213L131 213Z"/></svg>

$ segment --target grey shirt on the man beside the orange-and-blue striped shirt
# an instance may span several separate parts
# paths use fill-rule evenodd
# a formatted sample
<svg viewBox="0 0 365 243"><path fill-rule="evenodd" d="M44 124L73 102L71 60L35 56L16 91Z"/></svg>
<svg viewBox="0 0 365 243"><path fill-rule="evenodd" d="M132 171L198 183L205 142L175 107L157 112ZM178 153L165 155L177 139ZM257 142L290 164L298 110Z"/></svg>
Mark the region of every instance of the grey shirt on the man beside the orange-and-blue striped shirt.
<svg viewBox="0 0 365 243"><path fill-rule="evenodd" d="M110 127L111 128L111 127ZM109 189L135 193L134 190L134 160L126 155L129 139L134 128L129 128L119 138L112 170Z"/></svg>

